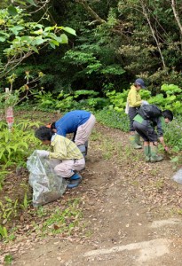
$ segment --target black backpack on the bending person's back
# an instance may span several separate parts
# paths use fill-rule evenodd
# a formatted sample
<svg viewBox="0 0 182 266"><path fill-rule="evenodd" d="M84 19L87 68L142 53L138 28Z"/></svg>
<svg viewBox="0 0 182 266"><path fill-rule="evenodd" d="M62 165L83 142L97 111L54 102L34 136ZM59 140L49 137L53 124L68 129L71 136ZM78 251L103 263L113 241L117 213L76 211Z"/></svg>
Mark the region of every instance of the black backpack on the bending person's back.
<svg viewBox="0 0 182 266"><path fill-rule="evenodd" d="M153 120L154 118L162 116L162 110L154 105L141 106L137 113L146 120Z"/></svg>

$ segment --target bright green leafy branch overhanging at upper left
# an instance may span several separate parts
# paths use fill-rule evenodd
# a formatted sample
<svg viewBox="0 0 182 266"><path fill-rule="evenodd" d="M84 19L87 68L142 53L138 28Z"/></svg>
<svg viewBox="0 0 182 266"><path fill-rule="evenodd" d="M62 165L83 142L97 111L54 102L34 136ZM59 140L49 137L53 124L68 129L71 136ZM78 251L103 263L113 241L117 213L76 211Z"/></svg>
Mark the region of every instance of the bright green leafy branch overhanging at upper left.
<svg viewBox="0 0 182 266"><path fill-rule="evenodd" d="M59 44L68 42L67 35L61 34L61 31L75 35L75 30L70 27L44 27L40 23L26 21L26 17L28 13L19 7L9 6L7 10L0 10L0 42L11 44L4 49L7 57L38 53L43 44L50 44L55 49Z"/></svg>

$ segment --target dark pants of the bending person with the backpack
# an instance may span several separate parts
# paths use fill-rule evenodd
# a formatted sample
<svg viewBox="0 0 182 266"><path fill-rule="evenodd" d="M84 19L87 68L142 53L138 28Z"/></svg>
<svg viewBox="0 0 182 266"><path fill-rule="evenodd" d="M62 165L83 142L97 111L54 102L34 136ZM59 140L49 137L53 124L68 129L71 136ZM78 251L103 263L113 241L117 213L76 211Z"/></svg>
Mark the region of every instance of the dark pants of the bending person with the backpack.
<svg viewBox="0 0 182 266"><path fill-rule="evenodd" d="M138 132L139 136L147 142L156 142L158 139L157 133L149 120L144 120L142 123L133 122L133 128Z"/></svg>

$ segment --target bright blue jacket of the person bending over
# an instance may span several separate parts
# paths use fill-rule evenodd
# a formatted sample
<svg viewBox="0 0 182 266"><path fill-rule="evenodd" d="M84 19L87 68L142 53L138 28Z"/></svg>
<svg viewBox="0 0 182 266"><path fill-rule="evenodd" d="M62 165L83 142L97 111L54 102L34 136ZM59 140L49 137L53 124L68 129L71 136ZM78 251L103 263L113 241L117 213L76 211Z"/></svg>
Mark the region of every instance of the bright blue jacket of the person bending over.
<svg viewBox="0 0 182 266"><path fill-rule="evenodd" d="M90 112L82 110L75 110L66 113L55 122L57 134L66 137L69 133L76 133L77 128L88 121L90 117Z"/></svg>

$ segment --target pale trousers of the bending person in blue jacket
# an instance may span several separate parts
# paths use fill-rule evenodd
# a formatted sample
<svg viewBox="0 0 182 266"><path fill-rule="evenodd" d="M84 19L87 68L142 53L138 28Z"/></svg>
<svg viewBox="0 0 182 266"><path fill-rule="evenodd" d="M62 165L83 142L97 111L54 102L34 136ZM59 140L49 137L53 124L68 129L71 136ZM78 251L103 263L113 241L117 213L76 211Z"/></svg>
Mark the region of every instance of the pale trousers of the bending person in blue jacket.
<svg viewBox="0 0 182 266"><path fill-rule="evenodd" d="M83 125L77 128L75 135L75 145L84 145L88 141L89 136L91 135L91 130L95 125L96 119L95 116L91 113L91 117Z"/></svg>

